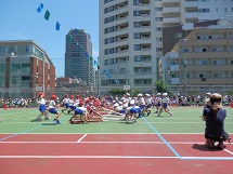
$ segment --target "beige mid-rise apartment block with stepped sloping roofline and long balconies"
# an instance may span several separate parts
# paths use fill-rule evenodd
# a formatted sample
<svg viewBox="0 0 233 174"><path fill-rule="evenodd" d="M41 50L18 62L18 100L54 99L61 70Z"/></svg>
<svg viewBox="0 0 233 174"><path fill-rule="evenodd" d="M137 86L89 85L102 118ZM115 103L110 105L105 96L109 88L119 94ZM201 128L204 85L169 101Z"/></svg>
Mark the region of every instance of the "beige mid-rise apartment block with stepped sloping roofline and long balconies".
<svg viewBox="0 0 233 174"><path fill-rule="evenodd" d="M187 93L226 93L233 86L232 53L233 17L229 17L217 25L195 27L160 58L159 72L172 91L184 94L185 86Z"/></svg>

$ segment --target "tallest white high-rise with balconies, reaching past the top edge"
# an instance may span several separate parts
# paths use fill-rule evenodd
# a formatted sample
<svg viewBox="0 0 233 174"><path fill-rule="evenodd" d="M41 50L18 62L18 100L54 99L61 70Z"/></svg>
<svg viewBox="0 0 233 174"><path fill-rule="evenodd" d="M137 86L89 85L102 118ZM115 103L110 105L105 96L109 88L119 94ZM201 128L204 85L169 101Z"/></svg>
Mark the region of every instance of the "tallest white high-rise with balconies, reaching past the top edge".
<svg viewBox="0 0 233 174"><path fill-rule="evenodd" d="M232 0L222 1L99 0L100 92L128 84L153 93L164 55L163 28L190 30L192 23L232 14Z"/></svg>

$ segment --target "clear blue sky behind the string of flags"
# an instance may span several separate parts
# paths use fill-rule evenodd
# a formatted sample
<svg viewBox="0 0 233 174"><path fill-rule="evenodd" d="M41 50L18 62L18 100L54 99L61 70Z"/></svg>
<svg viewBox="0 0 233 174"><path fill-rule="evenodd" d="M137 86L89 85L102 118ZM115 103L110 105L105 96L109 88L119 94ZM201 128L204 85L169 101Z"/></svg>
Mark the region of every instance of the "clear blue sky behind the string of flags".
<svg viewBox="0 0 233 174"><path fill-rule="evenodd" d="M37 12L40 3L43 9ZM49 21L44 19L46 11ZM61 24L60 30L55 24ZM0 0L0 40L33 40L52 59L56 77L64 76L65 35L85 29L91 36L92 56L99 56L99 0Z"/></svg>

